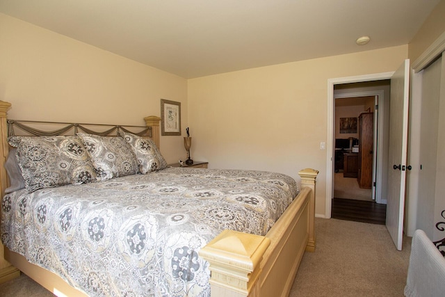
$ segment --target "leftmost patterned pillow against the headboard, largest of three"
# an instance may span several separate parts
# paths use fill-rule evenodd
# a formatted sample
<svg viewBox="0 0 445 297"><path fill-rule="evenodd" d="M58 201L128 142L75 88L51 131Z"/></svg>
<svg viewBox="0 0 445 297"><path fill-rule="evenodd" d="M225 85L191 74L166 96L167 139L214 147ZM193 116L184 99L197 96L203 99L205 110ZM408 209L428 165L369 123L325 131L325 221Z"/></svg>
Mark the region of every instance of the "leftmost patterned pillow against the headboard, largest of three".
<svg viewBox="0 0 445 297"><path fill-rule="evenodd" d="M77 136L11 136L26 189L81 184L96 179L94 167Z"/></svg>

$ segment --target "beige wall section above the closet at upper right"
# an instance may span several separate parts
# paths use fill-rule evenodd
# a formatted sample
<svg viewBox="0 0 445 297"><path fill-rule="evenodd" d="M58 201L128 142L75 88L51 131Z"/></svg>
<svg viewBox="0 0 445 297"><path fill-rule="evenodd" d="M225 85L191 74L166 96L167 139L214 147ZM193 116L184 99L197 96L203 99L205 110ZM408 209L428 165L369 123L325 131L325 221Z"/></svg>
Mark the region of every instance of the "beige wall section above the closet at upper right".
<svg viewBox="0 0 445 297"><path fill-rule="evenodd" d="M428 19L423 23L421 29L416 33L408 45L408 57L411 63L419 58L423 51L435 42L445 32L445 0L437 4Z"/></svg>

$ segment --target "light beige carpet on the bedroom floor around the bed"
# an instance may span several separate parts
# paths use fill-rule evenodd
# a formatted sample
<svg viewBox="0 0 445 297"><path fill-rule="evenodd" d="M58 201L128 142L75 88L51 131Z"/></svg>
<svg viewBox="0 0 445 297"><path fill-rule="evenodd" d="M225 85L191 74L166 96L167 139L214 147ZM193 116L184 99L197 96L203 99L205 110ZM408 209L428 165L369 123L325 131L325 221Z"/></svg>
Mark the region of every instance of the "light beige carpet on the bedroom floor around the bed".
<svg viewBox="0 0 445 297"><path fill-rule="evenodd" d="M291 289L297 296L403 296L411 238L396 250L386 227L316 218L316 251L306 252ZM0 284L0 296L53 296L26 275Z"/></svg>

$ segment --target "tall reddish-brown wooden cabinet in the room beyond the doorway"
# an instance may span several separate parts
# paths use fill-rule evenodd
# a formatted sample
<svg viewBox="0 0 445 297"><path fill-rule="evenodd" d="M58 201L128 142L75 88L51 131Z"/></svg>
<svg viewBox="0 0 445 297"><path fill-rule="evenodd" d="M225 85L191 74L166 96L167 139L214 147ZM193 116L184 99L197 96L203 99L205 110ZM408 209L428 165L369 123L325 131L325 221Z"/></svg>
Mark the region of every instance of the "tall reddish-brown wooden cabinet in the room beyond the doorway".
<svg viewBox="0 0 445 297"><path fill-rule="evenodd" d="M361 113L357 124L359 129L357 181L360 188L372 188L374 113Z"/></svg>

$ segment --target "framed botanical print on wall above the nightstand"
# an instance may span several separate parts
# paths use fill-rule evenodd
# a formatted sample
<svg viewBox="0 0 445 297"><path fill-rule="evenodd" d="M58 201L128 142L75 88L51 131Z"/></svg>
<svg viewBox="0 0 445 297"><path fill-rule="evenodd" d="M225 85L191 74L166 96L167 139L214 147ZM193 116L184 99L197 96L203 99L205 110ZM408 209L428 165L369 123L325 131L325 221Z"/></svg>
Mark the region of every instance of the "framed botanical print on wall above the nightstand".
<svg viewBox="0 0 445 297"><path fill-rule="evenodd" d="M161 135L181 135L181 102L161 99Z"/></svg>

